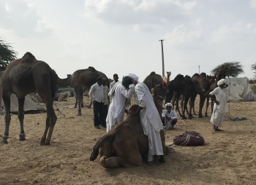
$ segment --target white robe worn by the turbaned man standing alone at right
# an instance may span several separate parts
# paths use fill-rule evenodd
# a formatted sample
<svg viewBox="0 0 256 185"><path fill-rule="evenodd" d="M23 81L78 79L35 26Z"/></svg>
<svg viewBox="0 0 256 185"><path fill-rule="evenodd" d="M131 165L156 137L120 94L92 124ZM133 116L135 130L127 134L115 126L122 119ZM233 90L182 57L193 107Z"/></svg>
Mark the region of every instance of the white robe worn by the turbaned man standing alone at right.
<svg viewBox="0 0 256 185"><path fill-rule="evenodd" d="M220 87L216 87L210 92L211 95L216 96L216 100L219 101L219 105L214 103L214 111L211 114L211 123L217 127L222 127L224 113L228 111L227 108L227 95Z"/></svg>

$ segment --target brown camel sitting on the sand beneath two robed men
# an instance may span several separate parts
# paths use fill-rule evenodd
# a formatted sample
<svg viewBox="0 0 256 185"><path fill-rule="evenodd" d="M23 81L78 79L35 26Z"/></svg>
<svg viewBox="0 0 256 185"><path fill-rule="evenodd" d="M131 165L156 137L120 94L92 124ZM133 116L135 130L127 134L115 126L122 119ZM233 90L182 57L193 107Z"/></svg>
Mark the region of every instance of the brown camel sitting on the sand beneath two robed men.
<svg viewBox="0 0 256 185"><path fill-rule="evenodd" d="M137 109L138 105L132 105L127 119L97 141L91 153L91 161L99 155L100 164L105 168L142 165L143 157L148 152L148 137L144 135L140 115L134 115Z"/></svg>

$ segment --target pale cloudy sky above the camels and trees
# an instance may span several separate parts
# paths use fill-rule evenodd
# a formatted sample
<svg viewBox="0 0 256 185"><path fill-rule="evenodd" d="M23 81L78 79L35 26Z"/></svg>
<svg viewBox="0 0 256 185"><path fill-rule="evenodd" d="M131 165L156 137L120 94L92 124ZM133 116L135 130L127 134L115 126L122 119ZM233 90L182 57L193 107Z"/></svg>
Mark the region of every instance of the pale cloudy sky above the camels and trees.
<svg viewBox="0 0 256 185"><path fill-rule="evenodd" d="M93 66L113 79L155 71L192 76L256 63L256 0L0 0L0 37L60 78ZM200 66L200 68L199 68Z"/></svg>

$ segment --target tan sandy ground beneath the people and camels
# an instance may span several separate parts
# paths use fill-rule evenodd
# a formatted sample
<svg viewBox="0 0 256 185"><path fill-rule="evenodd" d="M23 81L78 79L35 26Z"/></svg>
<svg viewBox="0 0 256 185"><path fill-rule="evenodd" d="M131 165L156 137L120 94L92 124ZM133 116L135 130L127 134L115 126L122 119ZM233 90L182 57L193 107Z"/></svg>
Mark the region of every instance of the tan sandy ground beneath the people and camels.
<svg viewBox="0 0 256 185"><path fill-rule="evenodd" d="M84 100L87 106L89 98ZM57 104L65 117L56 111L50 146L39 145L45 113L25 115L26 141L18 141L18 117L12 115L9 143L0 145L0 184L256 184L256 102L231 102L230 115L247 119L225 121L224 132L212 133L209 118L179 119L176 130L167 130L167 145L174 135L195 130L205 138L204 146L173 146L175 152L159 166L114 169L99 165L99 157L89 161L105 129L94 128L93 109L83 108L83 115L76 116L74 103L68 98Z"/></svg>

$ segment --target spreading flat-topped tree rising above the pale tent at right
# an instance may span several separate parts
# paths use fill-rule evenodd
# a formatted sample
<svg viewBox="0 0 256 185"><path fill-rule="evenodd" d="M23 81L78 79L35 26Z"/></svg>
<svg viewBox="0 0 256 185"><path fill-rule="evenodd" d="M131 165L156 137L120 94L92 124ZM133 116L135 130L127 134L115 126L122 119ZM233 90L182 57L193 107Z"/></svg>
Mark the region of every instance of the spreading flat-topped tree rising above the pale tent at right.
<svg viewBox="0 0 256 185"><path fill-rule="evenodd" d="M237 77L239 74L244 74L244 66L242 66L240 62L222 63L219 66L215 67L213 70L211 70L211 73L218 74L219 68L227 66L231 67L227 76Z"/></svg>

